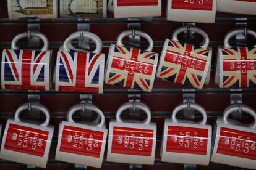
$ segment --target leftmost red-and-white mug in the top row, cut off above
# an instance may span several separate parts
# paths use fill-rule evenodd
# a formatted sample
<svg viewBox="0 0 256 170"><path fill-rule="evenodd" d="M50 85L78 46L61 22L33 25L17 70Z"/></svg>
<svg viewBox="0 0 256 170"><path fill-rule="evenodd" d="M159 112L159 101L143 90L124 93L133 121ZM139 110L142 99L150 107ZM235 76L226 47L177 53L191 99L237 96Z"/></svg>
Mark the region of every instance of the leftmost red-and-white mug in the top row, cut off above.
<svg viewBox="0 0 256 170"><path fill-rule="evenodd" d="M161 0L113 0L113 10L115 18L158 17L162 6Z"/></svg>

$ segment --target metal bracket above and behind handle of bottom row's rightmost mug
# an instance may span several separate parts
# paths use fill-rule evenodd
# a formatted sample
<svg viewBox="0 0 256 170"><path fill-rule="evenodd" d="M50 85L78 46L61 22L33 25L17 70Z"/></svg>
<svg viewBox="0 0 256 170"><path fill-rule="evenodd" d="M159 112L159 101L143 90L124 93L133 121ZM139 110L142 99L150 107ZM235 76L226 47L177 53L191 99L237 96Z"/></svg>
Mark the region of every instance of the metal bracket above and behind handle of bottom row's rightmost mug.
<svg viewBox="0 0 256 170"><path fill-rule="evenodd" d="M242 104L242 89L230 89L230 103L232 104ZM231 118L241 121L242 120L242 111L231 113Z"/></svg>

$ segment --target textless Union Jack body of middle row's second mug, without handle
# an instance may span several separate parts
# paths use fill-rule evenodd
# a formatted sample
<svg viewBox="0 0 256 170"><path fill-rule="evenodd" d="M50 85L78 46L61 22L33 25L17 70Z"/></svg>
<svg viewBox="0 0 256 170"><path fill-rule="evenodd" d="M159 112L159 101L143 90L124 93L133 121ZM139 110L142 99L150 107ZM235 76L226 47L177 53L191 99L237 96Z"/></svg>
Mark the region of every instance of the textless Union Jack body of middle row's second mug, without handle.
<svg viewBox="0 0 256 170"><path fill-rule="evenodd" d="M105 54L59 51L56 91L102 93Z"/></svg>

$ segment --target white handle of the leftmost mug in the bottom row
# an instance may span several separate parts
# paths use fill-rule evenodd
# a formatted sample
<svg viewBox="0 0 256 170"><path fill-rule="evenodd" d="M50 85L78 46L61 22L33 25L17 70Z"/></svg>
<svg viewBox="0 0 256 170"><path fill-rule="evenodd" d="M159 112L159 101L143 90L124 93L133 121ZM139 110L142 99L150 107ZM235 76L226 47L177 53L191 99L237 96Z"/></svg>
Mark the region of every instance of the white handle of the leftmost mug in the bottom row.
<svg viewBox="0 0 256 170"><path fill-rule="evenodd" d="M29 105L29 103L25 103L25 104L21 105L16 110L15 116L14 116L15 121L20 121L19 115L22 111L29 109L28 105ZM46 117L45 122L40 124L40 126L47 127L49 125L49 121L50 121L49 110L46 107L44 107L43 105L40 105L38 103L30 103L30 107L31 107L31 109L39 110L45 114L45 117Z"/></svg>

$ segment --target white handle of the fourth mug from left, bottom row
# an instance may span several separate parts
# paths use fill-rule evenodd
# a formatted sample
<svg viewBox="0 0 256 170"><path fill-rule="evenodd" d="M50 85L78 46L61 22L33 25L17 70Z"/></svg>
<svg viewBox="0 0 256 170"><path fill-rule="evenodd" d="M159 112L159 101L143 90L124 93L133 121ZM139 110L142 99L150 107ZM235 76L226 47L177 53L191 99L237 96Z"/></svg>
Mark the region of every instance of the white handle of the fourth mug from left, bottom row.
<svg viewBox="0 0 256 170"><path fill-rule="evenodd" d="M188 107L188 104L189 103L181 104L173 110L171 119L174 123L179 123L179 120L177 119L176 115L179 111L186 109ZM199 111L203 115L203 120L198 122L198 124L206 124L207 123L207 112L205 111L205 109L202 106L195 104L195 103L190 103L190 108Z"/></svg>

